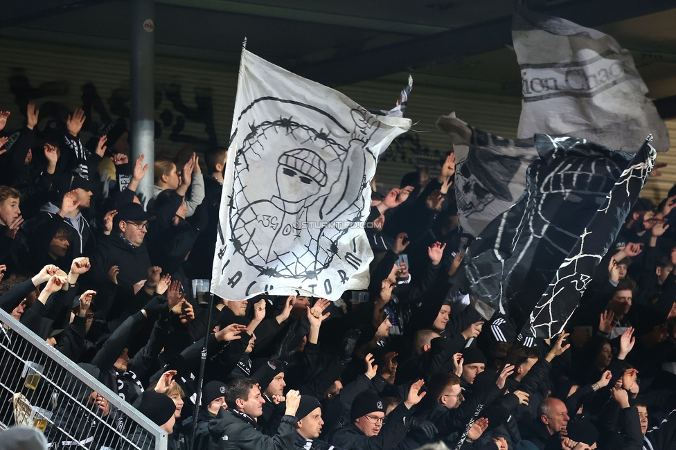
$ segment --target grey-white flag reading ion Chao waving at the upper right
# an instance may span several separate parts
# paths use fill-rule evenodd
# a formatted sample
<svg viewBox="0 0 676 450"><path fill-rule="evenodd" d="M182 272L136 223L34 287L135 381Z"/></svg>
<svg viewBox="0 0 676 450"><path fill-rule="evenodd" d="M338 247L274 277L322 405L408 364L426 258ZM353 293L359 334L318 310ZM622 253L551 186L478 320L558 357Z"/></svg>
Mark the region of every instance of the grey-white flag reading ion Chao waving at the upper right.
<svg viewBox="0 0 676 450"><path fill-rule="evenodd" d="M668 150L666 125L615 39L522 7L512 38L522 75L519 138L562 134L635 153L652 134L655 149Z"/></svg>

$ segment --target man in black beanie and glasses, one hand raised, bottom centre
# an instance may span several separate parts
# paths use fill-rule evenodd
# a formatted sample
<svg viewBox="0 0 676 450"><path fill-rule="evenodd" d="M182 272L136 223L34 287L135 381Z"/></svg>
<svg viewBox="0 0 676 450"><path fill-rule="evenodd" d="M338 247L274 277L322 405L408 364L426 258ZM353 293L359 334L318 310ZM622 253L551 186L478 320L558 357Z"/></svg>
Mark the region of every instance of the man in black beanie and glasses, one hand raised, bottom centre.
<svg viewBox="0 0 676 450"><path fill-rule="evenodd" d="M352 402L352 424L338 430L331 442L344 449L389 450L397 447L407 433L406 420L411 408L418 404L425 393L420 393L423 380L416 381L409 389L407 399L387 417L383 424L385 408L380 397L365 391Z"/></svg>

